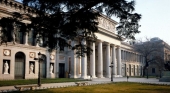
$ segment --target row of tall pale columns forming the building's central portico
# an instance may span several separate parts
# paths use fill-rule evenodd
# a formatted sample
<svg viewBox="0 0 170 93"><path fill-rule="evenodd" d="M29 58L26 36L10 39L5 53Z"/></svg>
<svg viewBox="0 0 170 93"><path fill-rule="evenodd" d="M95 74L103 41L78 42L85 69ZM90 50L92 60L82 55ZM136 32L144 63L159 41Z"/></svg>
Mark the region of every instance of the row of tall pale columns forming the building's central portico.
<svg viewBox="0 0 170 93"><path fill-rule="evenodd" d="M85 41L84 41L85 43ZM111 65L111 62L114 63L113 71L115 77L122 77L121 75L121 49L120 46L117 46L115 44L111 44L109 42L105 42L102 40L97 40L96 43L91 43L91 49L93 49L92 54L89 57L89 71L88 73L88 67L87 67L87 60L88 57L85 55L84 57L81 57L80 64L76 65L76 57L75 55L72 55L72 67L74 67L72 71L72 77L74 78L88 78L90 75L93 78L110 78L111 77L111 68L109 67ZM81 76L79 77L75 69L78 66L81 70Z"/></svg>

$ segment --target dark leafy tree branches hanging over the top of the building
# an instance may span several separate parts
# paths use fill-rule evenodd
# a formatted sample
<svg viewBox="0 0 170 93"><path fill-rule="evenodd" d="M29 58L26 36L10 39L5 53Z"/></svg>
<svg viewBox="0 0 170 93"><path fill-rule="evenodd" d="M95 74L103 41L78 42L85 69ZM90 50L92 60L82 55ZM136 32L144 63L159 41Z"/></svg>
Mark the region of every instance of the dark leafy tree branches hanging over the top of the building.
<svg viewBox="0 0 170 93"><path fill-rule="evenodd" d="M73 49L79 50L78 55L84 56L84 53L89 54L92 51L89 44L82 43L86 40L87 43L94 42L98 32L98 17L105 13L108 17L116 16L120 19L120 24L117 27L118 37L135 39L134 35L139 33L139 20L141 15L134 13L135 1L126 0L23 0L24 6L32 7L36 10L36 16L29 13L14 15L12 18L2 18L0 25L3 26L2 32L4 37L8 30L9 21L15 21L18 27L25 28L22 31L33 29L35 36L43 38L42 46L48 46L51 50L70 46L67 40L79 39L79 44L73 46ZM16 13L15 13L16 14ZM30 24L24 23L27 16ZM3 20L6 25L3 25ZM13 28L13 27L11 27ZM21 31L21 30L19 30ZM7 40L3 40L6 42Z"/></svg>

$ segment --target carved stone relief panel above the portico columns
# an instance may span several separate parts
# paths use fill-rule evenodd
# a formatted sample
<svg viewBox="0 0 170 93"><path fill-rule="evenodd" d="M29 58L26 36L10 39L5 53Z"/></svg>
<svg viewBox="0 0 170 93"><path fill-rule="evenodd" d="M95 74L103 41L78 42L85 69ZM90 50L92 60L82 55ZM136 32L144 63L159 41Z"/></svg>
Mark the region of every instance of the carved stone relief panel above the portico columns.
<svg viewBox="0 0 170 93"><path fill-rule="evenodd" d="M111 31L113 33L115 32L115 25L110 20L105 19L103 17L99 17L98 21L99 21L99 27Z"/></svg>

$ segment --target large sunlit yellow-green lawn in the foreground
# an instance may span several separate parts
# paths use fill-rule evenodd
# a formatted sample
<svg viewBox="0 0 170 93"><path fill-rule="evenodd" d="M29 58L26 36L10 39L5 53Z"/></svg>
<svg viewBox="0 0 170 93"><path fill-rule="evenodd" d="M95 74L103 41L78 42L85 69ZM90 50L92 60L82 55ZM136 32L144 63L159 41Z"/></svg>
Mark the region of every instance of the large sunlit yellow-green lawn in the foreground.
<svg viewBox="0 0 170 93"><path fill-rule="evenodd" d="M22 91L22 93L169 93L170 86L119 82L90 86ZM19 91L14 93L21 93Z"/></svg>

